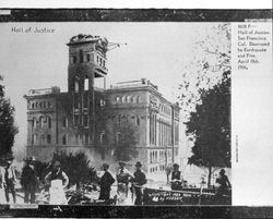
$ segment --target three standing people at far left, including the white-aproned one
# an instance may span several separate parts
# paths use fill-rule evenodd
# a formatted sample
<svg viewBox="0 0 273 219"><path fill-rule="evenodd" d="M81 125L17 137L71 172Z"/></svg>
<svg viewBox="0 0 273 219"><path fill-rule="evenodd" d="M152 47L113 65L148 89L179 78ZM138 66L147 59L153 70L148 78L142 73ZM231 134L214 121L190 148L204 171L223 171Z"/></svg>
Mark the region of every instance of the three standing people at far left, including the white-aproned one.
<svg viewBox="0 0 273 219"><path fill-rule="evenodd" d="M69 178L61 170L61 165L58 160L51 163L51 170L45 177L45 181L50 185L49 204L67 204L64 187L69 184ZM4 188L5 202L10 203L10 193L13 197L13 203L16 203L15 185L17 179L15 169L12 166L12 159L5 160L3 168L1 168L1 186ZM22 170L20 184L24 191L24 203L34 204L36 198L36 191L38 188L38 177L35 169L35 158L28 157L25 159L25 166Z"/></svg>

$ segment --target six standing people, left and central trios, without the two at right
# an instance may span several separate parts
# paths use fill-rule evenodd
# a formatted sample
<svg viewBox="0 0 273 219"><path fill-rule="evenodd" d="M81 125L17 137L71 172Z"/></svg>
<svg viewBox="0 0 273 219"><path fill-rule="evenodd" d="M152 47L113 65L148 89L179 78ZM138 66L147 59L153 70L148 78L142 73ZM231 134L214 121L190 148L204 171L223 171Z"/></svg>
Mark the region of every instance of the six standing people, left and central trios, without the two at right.
<svg viewBox="0 0 273 219"><path fill-rule="evenodd" d="M142 163L135 163L135 172L131 174L126 168L126 162L119 162L119 169L116 179L109 172L109 165L104 163L104 174L99 178L98 184L100 187L98 199L109 200L111 185L117 180L117 194L118 198L127 198L129 191L129 183L132 185L130 188L135 194L135 205L142 205L142 185L146 183L146 175L141 170ZM15 184L17 182L15 169L12 166L12 159L5 160L3 168L1 168L1 183L3 185L5 200L10 203L10 194L13 197L13 203L16 203ZM25 166L22 169L20 184L24 191L24 203L34 204L36 199L36 191L38 188L38 177L35 168L35 158L28 157L25 159ZM67 198L64 188L69 185L69 178L61 169L61 163L55 160L51 163L51 169L45 177L45 182L49 185L49 204L51 205L66 205Z"/></svg>

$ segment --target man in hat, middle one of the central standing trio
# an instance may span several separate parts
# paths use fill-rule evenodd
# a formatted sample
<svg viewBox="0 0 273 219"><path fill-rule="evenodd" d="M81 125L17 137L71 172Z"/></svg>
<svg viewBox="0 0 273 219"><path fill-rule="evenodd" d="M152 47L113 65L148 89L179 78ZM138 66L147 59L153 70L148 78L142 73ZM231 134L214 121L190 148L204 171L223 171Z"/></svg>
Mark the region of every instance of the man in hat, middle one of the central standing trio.
<svg viewBox="0 0 273 219"><path fill-rule="evenodd" d="M128 185L130 182L130 179L132 178L129 170L126 168L126 162L119 161L119 170L117 173L117 182L118 182L118 196L120 203L124 202L128 197Z"/></svg>

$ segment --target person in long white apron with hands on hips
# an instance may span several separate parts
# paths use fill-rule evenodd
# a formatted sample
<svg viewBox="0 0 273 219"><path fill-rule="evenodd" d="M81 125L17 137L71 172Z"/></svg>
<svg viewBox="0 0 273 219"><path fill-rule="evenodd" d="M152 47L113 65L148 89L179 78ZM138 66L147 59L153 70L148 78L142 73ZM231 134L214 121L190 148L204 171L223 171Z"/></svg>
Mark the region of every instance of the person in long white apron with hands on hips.
<svg viewBox="0 0 273 219"><path fill-rule="evenodd" d="M50 184L50 205L67 205L64 187L69 184L69 178L66 172L61 170L61 163L56 160L52 163L52 170L45 177L45 180Z"/></svg>

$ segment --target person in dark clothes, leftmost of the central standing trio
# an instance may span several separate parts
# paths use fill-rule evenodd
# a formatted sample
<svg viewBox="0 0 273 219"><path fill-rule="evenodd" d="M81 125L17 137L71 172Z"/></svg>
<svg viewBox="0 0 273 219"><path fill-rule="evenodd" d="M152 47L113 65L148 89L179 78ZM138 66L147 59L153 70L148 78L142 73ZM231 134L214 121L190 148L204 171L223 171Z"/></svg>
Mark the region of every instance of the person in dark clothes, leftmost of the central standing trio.
<svg viewBox="0 0 273 219"><path fill-rule="evenodd" d="M104 163L103 169L104 169L104 174L99 181L100 192L99 192L98 199L109 200L110 190L111 190L112 183L115 183L115 179L112 178L111 173L109 173L108 163Z"/></svg>

